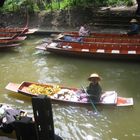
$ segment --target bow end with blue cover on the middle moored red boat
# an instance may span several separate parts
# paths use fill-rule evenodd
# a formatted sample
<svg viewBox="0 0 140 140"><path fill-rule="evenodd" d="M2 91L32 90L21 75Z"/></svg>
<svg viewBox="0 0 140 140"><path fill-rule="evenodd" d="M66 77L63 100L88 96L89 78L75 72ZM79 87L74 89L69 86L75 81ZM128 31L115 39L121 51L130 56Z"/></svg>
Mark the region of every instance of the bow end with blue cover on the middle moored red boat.
<svg viewBox="0 0 140 140"><path fill-rule="evenodd" d="M82 42L82 37L73 37L69 35L60 34L57 40L64 40L66 42Z"/></svg>

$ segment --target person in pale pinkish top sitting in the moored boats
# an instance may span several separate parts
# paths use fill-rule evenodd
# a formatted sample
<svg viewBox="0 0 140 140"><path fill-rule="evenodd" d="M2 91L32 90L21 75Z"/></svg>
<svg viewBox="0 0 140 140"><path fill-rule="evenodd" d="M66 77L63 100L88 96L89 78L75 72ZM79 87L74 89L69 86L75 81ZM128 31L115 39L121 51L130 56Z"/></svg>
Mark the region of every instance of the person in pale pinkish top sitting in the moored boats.
<svg viewBox="0 0 140 140"><path fill-rule="evenodd" d="M84 24L79 29L79 36L89 36L90 35L90 29L87 24Z"/></svg>

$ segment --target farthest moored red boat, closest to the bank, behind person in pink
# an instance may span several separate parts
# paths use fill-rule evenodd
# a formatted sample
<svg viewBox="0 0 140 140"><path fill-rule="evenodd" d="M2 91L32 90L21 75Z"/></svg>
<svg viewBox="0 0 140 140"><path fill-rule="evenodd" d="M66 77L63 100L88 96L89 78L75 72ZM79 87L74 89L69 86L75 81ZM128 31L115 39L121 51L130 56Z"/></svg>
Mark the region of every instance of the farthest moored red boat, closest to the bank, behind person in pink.
<svg viewBox="0 0 140 140"><path fill-rule="evenodd" d="M71 36L79 36L77 31L73 31L73 32L62 32L65 35L71 35ZM90 36L94 36L94 37L117 37L117 38L140 38L140 34L136 34L136 35L127 35L127 34L119 34L119 33L97 33L97 32L91 32Z"/></svg>

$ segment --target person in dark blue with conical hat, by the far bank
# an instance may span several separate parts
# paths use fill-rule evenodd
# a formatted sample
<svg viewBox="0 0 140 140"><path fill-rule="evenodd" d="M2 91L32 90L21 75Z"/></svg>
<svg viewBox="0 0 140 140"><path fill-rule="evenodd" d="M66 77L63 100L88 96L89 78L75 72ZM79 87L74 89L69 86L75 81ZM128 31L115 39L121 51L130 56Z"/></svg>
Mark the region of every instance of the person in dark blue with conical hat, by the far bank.
<svg viewBox="0 0 140 140"><path fill-rule="evenodd" d="M130 21L130 31L127 33L128 35L135 35L139 33L140 27L138 25L138 21L136 19L132 19Z"/></svg>

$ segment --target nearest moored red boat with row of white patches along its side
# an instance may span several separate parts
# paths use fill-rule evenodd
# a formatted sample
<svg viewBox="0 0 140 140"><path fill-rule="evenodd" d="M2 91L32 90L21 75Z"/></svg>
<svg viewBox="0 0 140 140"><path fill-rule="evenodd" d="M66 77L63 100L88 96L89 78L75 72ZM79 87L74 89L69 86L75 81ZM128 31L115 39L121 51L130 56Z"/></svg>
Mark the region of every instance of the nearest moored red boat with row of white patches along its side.
<svg viewBox="0 0 140 140"><path fill-rule="evenodd" d="M45 44L45 45L44 45ZM37 46L37 49L66 56L140 60L140 46L102 43L53 42Z"/></svg>

